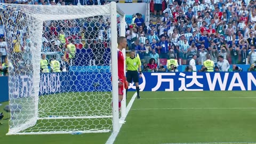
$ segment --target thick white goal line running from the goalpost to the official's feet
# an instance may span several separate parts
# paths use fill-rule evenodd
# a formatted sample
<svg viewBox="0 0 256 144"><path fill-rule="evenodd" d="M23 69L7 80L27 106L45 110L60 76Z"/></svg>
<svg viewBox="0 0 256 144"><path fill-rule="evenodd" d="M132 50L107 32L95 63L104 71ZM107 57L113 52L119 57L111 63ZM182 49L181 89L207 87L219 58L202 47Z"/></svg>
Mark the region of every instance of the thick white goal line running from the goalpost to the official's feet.
<svg viewBox="0 0 256 144"><path fill-rule="evenodd" d="M129 111L131 110L132 104L133 104L133 102L134 102L134 100L135 100L136 97L137 97L137 92L135 92L135 93L133 94L132 99L130 100L129 104L128 104L127 107L126 107L126 114L125 114L125 117L122 118L121 120L123 120L123 121L125 120L126 116L128 115ZM121 129L122 125L123 125L123 124L120 124L119 130ZM108 138L106 144L113 144L114 141L115 141L115 139L116 139L116 137L117 137L117 135L118 135L118 133L119 133L119 131L118 131L118 132L115 132L115 133L113 132L113 133L110 135L110 137Z"/></svg>

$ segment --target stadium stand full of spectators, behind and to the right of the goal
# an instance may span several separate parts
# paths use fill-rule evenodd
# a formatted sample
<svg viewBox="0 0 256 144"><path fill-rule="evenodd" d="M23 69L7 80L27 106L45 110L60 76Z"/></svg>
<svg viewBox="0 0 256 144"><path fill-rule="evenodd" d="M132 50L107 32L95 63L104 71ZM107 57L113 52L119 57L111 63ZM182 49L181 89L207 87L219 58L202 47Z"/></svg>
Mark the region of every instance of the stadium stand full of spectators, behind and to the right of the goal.
<svg viewBox="0 0 256 144"><path fill-rule="evenodd" d="M107 1L3 1L4 3L39 4L39 5L92 5L106 4ZM118 2L118 1L117 1ZM135 1L119 1L131 3ZM148 2L148 1L136 1ZM256 2L254 1L210 1L210 0L187 0L187 1L162 1L162 15L157 15L154 8L159 11L159 2L150 2L151 20L146 25L140 13L133 14L132 23L127 23L127 51L135 49L140 55L142 62L149 62L150 53L153 49L159 55L159 62L164 65L167 60L178 60L179 71L185 71L186 66L193 55L197 55L196 67L201 68L207 55L217 66L218 56L222 55L230 64L230 71L243 71L254 67L256 62ZM158 6L158 7L157 7ZM117 19L118 20L118 19ZM11 22L11 21L10 21ZM102 23L101 18L87 18L74 21L47 21L44 22L43 53L55 52L64 56L68 67L109 65L110 58L108 39L109 23ZM18 33L21 29L16 29ZM4 33L2 21L0 22L0 69L1 76L6 68L4 59ZM117 29L118 31L118 29ZM2 40L1 40L2 39ZM67 45L73 43L75 54L72 57L71 50ZM101 51L107 62L95 63L93 59L93 47L102 44ZM97 45L98 44L98 45ZM141 45L142 44L142 45ZM14 45L15 47L15 45ZM23 48L22 48L23 49ZM128 53L127 53L128 54ZM51 59L49 55L46 57ZM77 59L79 58L79 59ZM71 63L70 63L71 60ZM199 66L198 66L199 65ZM232 65L236 65L235 69ZM4 67L5 66L5 67ZM165 68L166 65L164 65ZM74 68L70 68L72 70ZM143 69L143 68L142 68ZM221 67L219 68L221 70ZM239 69L241 70L241 69ZM167 70L168 71L168 70ZM223 71L223 70L222 70ZM5 71L6 72L6 71Z"/></svg>

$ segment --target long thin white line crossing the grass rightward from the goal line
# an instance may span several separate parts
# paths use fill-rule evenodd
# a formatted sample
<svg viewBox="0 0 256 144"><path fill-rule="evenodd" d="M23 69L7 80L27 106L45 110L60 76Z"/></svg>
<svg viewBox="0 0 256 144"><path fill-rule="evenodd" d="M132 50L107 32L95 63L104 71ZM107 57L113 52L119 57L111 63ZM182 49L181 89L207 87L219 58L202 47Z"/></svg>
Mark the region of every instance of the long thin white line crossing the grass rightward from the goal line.
<svg viewBox="0 0 256 144"><path fill-rule="evenodd" d="M256 109L255 108L134 108L131 110L172 110L172 109Z"/></svg>

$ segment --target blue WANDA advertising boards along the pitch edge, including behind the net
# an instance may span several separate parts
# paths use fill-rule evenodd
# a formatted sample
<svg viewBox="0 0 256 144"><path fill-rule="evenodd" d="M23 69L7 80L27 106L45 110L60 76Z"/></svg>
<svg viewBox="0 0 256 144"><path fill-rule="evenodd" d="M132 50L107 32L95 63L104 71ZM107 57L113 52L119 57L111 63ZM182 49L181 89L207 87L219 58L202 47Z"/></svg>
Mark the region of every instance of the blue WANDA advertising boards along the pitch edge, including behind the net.
<svg viewBox="0 0 256 144"><path fill-rule="evenodd" d="M92 92L111 90L110 73L68 72L49 73L41 76L39 94L61 92ZM19 76L10 91L12 97L26 97L30 89L30 76ZM8 79L0 77L0 102L8 100ZM256 72L220 73L143 73L140 78L140 91L255 91ZM134 83L130 84L135 90ZM129 90L129 91L130 91ZM15 95L17 94L17 95Z"/></svg>

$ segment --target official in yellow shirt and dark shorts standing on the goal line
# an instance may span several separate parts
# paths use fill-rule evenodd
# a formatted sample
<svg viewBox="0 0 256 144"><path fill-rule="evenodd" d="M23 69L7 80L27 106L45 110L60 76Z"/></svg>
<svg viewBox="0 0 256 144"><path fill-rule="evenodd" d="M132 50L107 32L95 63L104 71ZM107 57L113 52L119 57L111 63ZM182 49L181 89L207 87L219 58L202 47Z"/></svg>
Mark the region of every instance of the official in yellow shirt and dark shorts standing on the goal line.
<svg viewBox="0 0 256 144"><path fill-rule="evenodd" d="M128 85L132 81L135 83L136 91L137 91L137 98L140 99L140 87L139 87L139 77L141 78L141 63L140 59L138 57L135 57L135 50L131 50L130 52L131 57L126 58L125 64L127 66L127 82ZM138 76L138 68L139 68L139 76ZM127 91L126 89L126 97L127 97Z"/></svg>

